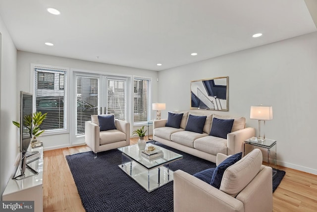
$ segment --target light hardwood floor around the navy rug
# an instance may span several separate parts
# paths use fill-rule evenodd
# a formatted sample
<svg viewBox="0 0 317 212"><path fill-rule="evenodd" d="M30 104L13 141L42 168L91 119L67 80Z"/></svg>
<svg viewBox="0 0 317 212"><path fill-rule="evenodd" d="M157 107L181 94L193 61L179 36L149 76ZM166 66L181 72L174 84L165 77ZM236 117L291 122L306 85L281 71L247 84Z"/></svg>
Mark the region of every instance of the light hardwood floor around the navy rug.
<svg viewBox="0 0 317 212"><path fill-rule="evenodd" d="M137 139L131 139L131 144ZM84 212L65 155L90 151L87 146L44 152L44 212ZM317 175L278 166L285 170L281 184L273 193L274 212L317 212Z"/></svg>

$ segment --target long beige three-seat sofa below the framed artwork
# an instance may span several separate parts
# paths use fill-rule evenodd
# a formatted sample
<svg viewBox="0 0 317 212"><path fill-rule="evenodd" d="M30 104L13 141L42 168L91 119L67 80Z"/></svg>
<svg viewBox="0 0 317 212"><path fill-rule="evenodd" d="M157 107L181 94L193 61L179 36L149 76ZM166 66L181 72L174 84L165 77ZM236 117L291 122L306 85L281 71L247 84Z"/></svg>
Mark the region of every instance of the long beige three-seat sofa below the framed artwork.
<svg viewBox="0 0 317 212"><path fill-rule="evenodd" d="M183 113L180 128L165 127L167 119L155 120L153 122L154 141L211 162L216 162L217 153L231 155L243 152L243 141L255 136L254 128L245 128L246 119L244 117L217 115L215 111L210 110L174 111L172 113ZM202 134L185 130L189 115L207 116ZM227 134L226 139L209 135L213 118L234 119L231 133Z"/></svg>

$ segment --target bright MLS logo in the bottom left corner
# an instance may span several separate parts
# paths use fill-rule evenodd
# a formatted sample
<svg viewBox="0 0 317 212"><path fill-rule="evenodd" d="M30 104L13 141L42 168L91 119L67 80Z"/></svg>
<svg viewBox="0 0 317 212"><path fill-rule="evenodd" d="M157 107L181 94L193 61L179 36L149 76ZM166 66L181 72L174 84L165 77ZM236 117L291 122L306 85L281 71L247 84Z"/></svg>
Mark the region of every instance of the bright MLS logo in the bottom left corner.
<svg viewBox="0 0 317 212"><path fill-rule="evenodd" d="M34 212L34 201L1 201L1 212Z"/></svg>

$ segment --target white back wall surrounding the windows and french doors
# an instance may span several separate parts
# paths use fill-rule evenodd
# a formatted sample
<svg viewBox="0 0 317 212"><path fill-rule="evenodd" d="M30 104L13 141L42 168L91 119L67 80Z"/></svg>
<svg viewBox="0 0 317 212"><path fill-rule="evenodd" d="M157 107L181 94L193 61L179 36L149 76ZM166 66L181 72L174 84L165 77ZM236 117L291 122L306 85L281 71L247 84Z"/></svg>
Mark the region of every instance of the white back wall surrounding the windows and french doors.
<svg viewBox="0 0 317 212"><path fill-rule="evenodd" d="M158 101L158 72L157 71L148 71L142 69L135 69L124 66L115 66L102 63L87 62L81 60L74 60L69 58L61 58L49 55L35 54L29 52L18 51L17 53L17 90L23 90L26 92L33 93L33 87L30 83L32 81L30 65L39 64L39 65L48 65L48 66L57 66L62 68L69 68L72 70L84 70L84 71L97 71L105 73L114 73L114 74L124 74L124 75L135 75L135 76L145 76L152 78L152 96L153 102ZM72 73L69 74L71 76ZM71 87L68 87L72 89ZM72 91L71 91L72 92ZM152 116L154 117L154 112ZM132 130L131 130L132 132ZM70 139L72 135L62 134L55 136L41 136L43 141L44 149L53 149L69 146Z"/></svg>

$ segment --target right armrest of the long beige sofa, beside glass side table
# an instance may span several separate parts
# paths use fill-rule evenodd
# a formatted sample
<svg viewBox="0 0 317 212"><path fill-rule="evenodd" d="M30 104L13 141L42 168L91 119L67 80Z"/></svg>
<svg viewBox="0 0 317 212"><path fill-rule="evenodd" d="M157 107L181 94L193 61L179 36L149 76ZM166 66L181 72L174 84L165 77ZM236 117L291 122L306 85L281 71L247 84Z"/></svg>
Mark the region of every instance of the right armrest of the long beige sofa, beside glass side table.
<svg viewBox="0 0 317 212"><path fill-rule="evenodd" d="M240 151L243 152L243 143L245 140L255 136L255 129L248 127L227 134L227 154L235 154Z"/></svg>

